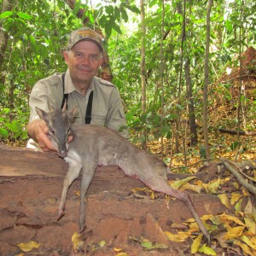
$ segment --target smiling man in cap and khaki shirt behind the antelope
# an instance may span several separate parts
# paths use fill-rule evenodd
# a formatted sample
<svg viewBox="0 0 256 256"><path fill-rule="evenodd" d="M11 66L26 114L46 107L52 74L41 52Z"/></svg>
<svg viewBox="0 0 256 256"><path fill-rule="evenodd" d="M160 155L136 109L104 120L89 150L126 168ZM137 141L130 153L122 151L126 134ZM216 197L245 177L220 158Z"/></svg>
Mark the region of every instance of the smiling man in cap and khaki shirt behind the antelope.
<svg viewBox="0 0 256 256"><path fill-rule="evenodd" d="M105 125L119 131L125 127L125 113L116 87L96 73L103 61L102 38L88 27L71 33L64 58L67 63L65 76L56 73L39 80L32 89L29 105L31 115L27 126L31 138L27 148L55 150L48 138L48 128L39 119L35 107L49 111L48 102L54 108L62 108L67 100L68 109L78 107L74 118L76 124ZM128 138L126 129L119 131Z"/></svg>

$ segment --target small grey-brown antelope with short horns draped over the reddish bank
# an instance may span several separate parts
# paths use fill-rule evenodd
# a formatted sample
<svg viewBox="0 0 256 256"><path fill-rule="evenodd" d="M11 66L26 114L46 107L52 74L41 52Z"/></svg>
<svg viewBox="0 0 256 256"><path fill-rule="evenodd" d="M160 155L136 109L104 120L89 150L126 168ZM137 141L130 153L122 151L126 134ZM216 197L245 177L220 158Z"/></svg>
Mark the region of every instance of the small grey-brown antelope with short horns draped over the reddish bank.
<svg viewBox="0 0 256 256"><path fill-rule="evenodd" d="M58 220L64 215L67 190L71 183L79 177L82 170L80 186L79 228L84 230L85 195L94 176L97 166L116 165L122 168L125 175L140 179L154 191L176 197L189 207L201 232L210 243L206 227L201 222L189 195L183 191L172 189L167 182L168 167L156 156L137 148L117 132L99 125L72 125L77 111L67 111L67 104L62 109L49 106L49 113L36 108L38 115L49 127L49 139L61 158L69 164L59 206ZM73 139L68 143L68 137Z"/></svg>

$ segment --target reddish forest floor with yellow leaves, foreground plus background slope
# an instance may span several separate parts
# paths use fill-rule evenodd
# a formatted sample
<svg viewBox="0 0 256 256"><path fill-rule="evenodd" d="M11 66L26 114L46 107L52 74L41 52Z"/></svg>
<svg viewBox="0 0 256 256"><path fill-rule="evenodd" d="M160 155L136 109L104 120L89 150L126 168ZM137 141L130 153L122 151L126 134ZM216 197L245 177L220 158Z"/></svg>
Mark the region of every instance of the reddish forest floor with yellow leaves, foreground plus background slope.
<svg viewBox="0 0 256 256"><path fill-rule="evenodd" d="M252 50L245 53L245 65L252 55L255 58ZM243 93L253 102L255 72L243 72ZM237 71L219 78L221 83L232 81L232 97L237 96L236 76ZM218 131L236 130L236 108L223 95L224 91L212 93L209 109L211 161L201 161L200 120L201 145L188 146L186 167L181 168L182 154L170 158L172 143L165 141L164 152L166 162L172 162L172 172L177 172L169 173L170 183L189 192L212 235L211 245L207 246L181 201L154 193L140 181L125 177L116 166L96 169L87 195L86 229L79 234L80 179L68 191L66 214L56 220L67 164L53 153L0 144L0 255L255 255L255 195L230 170L235 169L255 188L256 141L252 135L241 136L238 148L236 135ZM253 131L253 116L247 117L255 111L250 108L243 104L243 124ZM149 149L160 155L159 142L150 143Z"/></svg>

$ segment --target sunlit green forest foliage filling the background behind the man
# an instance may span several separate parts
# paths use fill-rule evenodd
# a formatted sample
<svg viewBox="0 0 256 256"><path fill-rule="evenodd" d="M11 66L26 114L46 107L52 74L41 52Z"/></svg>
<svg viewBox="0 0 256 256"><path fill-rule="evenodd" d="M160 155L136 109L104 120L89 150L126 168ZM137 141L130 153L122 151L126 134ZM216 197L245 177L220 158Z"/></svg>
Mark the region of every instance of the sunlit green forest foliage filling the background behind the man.
<svg viewBox="0 0 256 256"><path fill-rule="evenodd" d="M26 143L29 92L38 79L66 69L62 51L68 33L84 25L96 26L104 34L113 83L118 86L124 100L131 134L146 129L148 137L139 137L140 141L150 140L151 136L153 139L183 137L186 127L181 122L189 119L191 114L187 111L191 98L188 98L187 74L183 71L186 61L189 61L195 118L202 114L204 76L201 71L205 63L207 3L148 1L144 5L147 88L146 109L143 111L140 75L142 32L138 2L100 1L91 5L90 1L2 1L1 140L16 145ZM163 11L165 15L162 15ZM250 1L214 3L210 84L218 81L226 67L238 67L239 58L235 56L253 46L254 11L255 3ZM210 88L209 105L212 104L211 95L222 90L222 86ZM224 90L223 96L229 99L229 91ZM245 102L247 98L242 100ZM236 98L235 104L237 102ZM17 124L19 129L16 129ZM20 129L22 132L18 131ZM189 137L185 138L187 142L191 140ZM186 151L184 148L183 152Z"/></svg>

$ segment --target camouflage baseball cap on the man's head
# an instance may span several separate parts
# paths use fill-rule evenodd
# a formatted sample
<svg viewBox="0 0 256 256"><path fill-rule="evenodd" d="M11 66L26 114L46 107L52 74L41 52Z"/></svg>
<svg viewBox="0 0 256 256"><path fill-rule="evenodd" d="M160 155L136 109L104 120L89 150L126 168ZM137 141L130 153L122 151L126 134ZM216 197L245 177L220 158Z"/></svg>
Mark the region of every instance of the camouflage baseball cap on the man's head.
<svg viewBox="0 0 256 256"><path fill-rule="evenodd" d="M80 41L90 41L99 46L99 48L103 51L102 38L98 33L89 27L82 27L78 30L73 31L67 41L67 50L72 49L73 46Z"/></svg>

